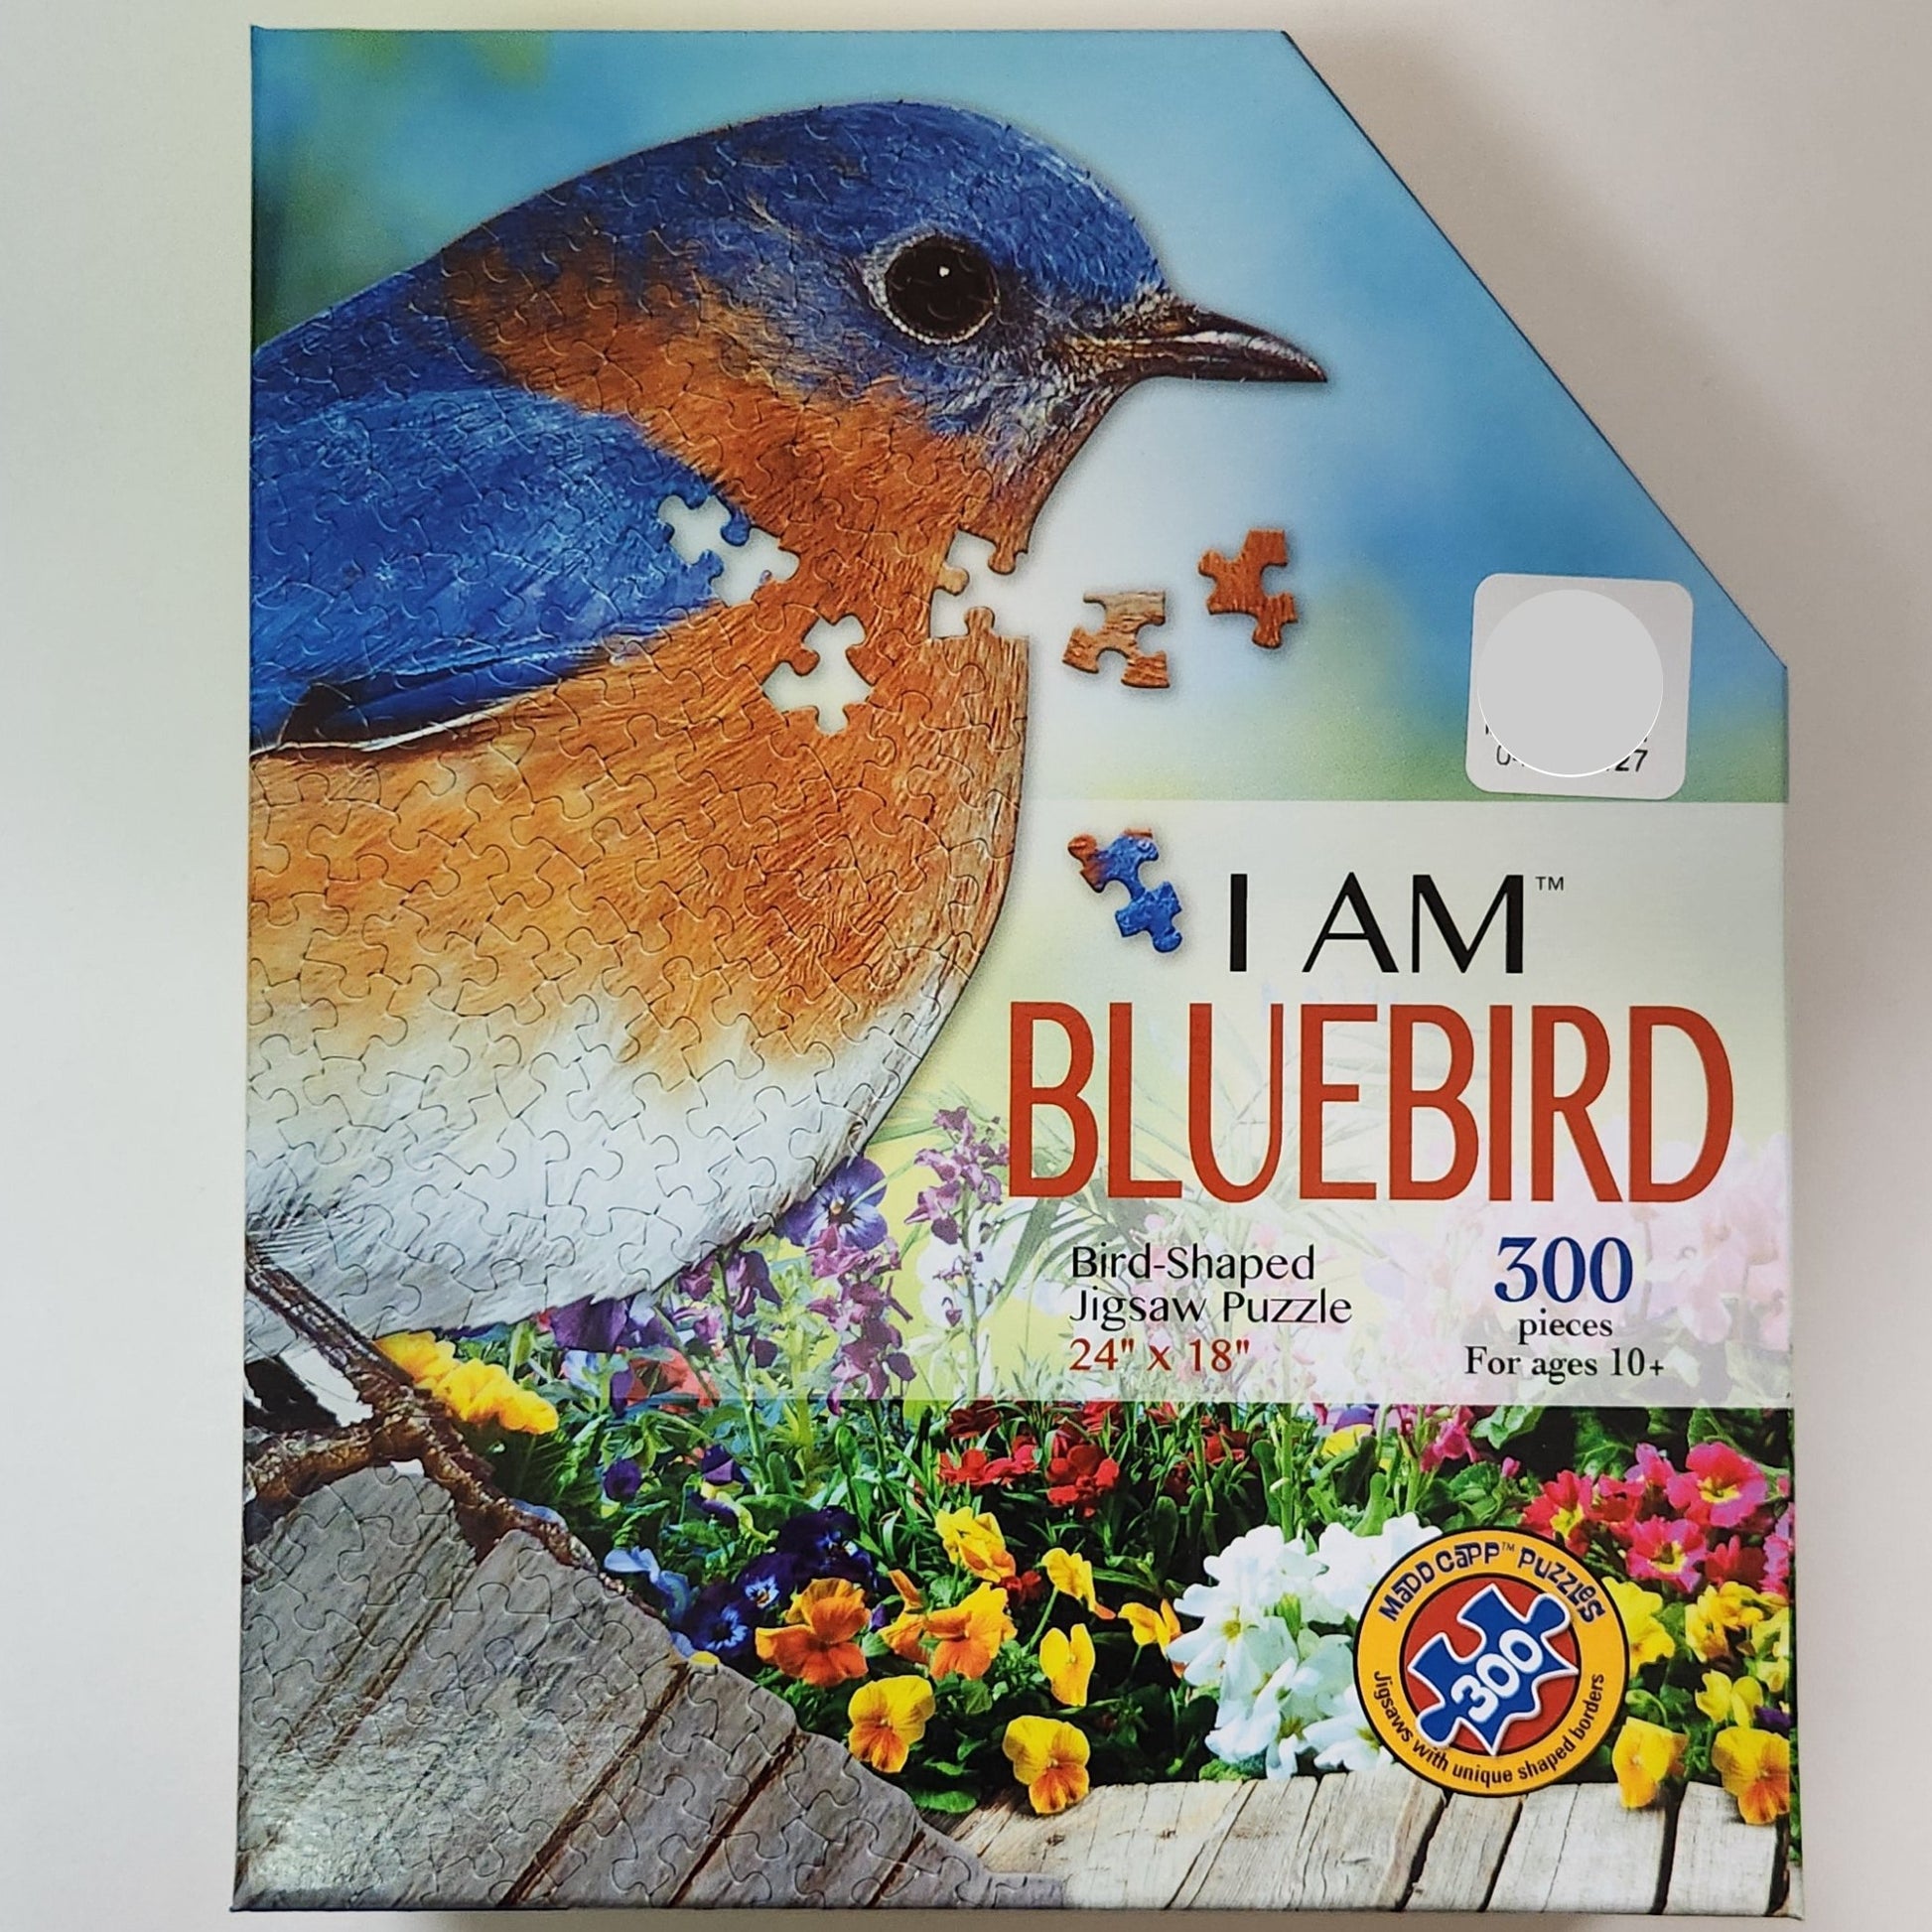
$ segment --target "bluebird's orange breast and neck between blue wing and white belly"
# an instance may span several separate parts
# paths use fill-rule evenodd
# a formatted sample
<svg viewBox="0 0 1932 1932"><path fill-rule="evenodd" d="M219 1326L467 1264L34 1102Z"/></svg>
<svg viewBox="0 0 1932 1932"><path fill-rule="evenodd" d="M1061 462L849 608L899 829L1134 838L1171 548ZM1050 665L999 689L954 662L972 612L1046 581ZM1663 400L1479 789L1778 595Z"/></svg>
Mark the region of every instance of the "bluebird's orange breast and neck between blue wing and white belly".
<svg viewBox="0 0 1932 1932"><path fill-rule="evenodd" d="M728 332L672 338L589 282L545 303L493 309L502 361L639 419L800 568L475 724L259 757L257 1028L298 999L323 1049L355 1057L431 1005L549 1034L591 995L659 1063L668 1043L697 1072L744 1028L829 1066L881 1012L945 1010L1005 891L1026 647L983 612L927 636L983 471L891 396L757 383ZM806 632L846 614L873 690L825 734L759 686L806 670Z"/></svg>

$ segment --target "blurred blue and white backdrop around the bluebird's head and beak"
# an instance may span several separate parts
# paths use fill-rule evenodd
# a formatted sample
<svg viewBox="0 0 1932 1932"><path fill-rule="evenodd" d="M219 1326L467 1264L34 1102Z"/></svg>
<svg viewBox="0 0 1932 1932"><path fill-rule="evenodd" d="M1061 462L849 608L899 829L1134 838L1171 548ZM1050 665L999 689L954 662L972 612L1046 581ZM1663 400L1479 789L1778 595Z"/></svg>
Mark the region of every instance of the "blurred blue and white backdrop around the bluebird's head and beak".
<svg viewBox="0 0 1932 1932"><path fill-rule="evenodd" d="M257 340L616 155L885 97L1055 143L1177 288L1320 357L1321 390L1142 388L1055 493L993 593L1039 645L1036 792L1480 800L1470 603L1509 570L1685 583L1679 796L1783 798L1783 667L1279 35L259 33L255 75ZM1279 653L1202 611L1200 553L1252 526L1289 531ZM1130 587L1169 595L1171 692L1057 665Z"/></svg>

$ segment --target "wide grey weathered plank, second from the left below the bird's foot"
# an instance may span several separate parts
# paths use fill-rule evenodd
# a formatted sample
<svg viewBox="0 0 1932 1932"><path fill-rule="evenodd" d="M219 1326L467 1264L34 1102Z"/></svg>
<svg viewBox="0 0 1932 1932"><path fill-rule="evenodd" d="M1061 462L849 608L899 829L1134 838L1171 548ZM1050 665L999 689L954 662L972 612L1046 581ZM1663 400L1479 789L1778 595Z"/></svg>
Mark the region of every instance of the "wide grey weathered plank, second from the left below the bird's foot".
<svg viewBox="0 0 1932 1932"><path fill-rule="evenodd" d="M498 1903L684 1671L636 1605L506 1536L242 1861L238 1903Z"/></svg>

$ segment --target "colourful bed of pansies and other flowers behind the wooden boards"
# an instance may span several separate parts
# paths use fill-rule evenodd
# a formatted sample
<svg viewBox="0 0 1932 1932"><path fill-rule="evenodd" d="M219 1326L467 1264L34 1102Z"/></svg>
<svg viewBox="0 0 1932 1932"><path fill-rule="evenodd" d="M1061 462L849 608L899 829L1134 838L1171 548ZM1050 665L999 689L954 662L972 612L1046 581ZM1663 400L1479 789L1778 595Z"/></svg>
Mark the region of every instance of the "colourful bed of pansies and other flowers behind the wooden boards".
<svg viewBox="0 0 1932 1932"><path fill-rule="evenodd" d="M852 1256L883 1240L856 1238L875 1204L846 1182L796 1235L864 1279ZM777 1293L753 1250L690 1287L726 1358L730 1312ZM757 1675L929 1810L1366 1768L1370 1590L1437 1530L1505 1524L1565 1544L1621 1611L1631 1689L1590 1774L1631 1806L1690 1777L1752 1824L1791 1810L1779 1410L734 1401L665 1320L580 1306L384 1347L680 1650Z"/></svg>

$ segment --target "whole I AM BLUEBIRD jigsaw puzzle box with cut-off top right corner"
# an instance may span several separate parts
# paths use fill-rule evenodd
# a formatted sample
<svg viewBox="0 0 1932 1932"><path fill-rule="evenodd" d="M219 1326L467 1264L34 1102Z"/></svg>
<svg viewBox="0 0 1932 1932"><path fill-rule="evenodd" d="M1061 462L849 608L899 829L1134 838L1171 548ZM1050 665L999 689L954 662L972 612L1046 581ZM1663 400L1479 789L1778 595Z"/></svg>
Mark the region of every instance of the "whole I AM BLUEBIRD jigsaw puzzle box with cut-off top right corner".
<svg viewBox="0 0 1932 1932"><path fill-rule="evenodd" d="M238 1903L1793 1911L1783 670L1277 35L255 41Z"/></svg>

